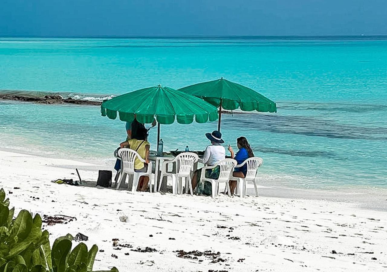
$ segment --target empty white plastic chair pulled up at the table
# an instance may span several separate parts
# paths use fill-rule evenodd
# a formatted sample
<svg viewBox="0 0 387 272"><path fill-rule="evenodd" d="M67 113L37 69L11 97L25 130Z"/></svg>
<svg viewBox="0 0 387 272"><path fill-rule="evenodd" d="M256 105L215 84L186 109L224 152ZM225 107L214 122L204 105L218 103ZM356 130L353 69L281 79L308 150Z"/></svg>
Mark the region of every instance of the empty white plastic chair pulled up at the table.
<svg viewBox="0 0 387 272"><path fill-rule="evenodd" d="M185 180L185 192L188 193L188 188L191 195L194 194L191 183L191 169L199 160L197 154L192 152L184 152L178 154L172 161L164 161L161 169L160 183L158 191L160 191L161 183L163 183L164 176L172 178L172 193L183 193L183 179ZM176 163L176 173L168 173L167 167L170 163Z"/></svg>

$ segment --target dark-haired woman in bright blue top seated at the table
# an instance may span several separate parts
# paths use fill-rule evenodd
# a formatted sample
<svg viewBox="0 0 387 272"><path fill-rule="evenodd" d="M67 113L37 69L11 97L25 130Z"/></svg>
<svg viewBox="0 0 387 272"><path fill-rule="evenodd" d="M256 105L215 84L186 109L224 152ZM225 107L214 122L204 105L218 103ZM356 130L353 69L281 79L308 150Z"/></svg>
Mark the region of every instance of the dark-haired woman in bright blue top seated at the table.
<svg viewBox="0 0 387 272"><path fill-rule="evenodd" d="M250 144L247 142L247 139L245 137L239 137L236 139L236 145L238 146L238 152L236 152L236 155L234 156L234 151L231 146L228 146L228 151L231 153L231 158L235 159L238 164L243 163L246 159L254 157L254 153L250 147ZM244 178L247 173L247 164L245 164L242 167L235 167L233 176L237 178ZM230 190L231 195L234 194L236 187L236 181L230 180Z"/></svg>

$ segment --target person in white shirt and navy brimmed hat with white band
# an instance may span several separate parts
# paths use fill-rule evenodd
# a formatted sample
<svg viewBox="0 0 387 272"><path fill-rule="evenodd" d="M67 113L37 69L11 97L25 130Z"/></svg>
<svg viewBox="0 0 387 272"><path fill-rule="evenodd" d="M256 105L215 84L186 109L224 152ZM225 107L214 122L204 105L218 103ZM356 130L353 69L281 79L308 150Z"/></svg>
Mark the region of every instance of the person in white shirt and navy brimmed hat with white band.
<svg viewBox="0 0 387 272"><path fill-rule="evenodd" d="M211 141L211 145L206 147L204 156L202 159L199 159L199 162L205 164L206 166L212 166L219 163L219 161L226 157L226 149L224 149L224 147L221 145L224 143L224 141L222 140L222 133L219 131L214 130L212 133L205 133L205 137ZM219 167L206 170L206 178L219 178L219 170ZM202 184L200 178L201 171L201 168L195 171L195 174L192 177L192 188L195 190L196 186L198 185L196 188L197 193L211 195L211 184L209 186L207 184Z"/></svg>

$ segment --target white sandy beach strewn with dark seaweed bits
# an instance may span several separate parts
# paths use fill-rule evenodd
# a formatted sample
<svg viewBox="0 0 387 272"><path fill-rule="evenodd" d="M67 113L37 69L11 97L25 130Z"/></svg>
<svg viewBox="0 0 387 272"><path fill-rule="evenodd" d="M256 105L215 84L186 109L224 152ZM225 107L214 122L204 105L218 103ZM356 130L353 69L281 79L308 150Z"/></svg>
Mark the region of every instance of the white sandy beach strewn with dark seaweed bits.
<svg viewBox="0 0 387 272"><path fill-rule="evenodd" d="M83 180L94 183L51 183L58 178L77 180L75 168ZM304 190L285 198L275 197L280 193L273 188L262 187L264 196L247 198L132 193L94 187L98 169L101 167L94 164L0 151L0 187L10 198L11 207L76 217L67 224L45 224L44 228L52 241L66 233L88 236L87 245L96 243L101 250L95 269L387 269L387 213L356 202L356 195L350 202L340 202L334 197L313 199ZM127 216L127 222L121 222L120 216ZM147 247L145 251L155 251L134 251ZM185 255L180 250L196 253Z"/></svg>

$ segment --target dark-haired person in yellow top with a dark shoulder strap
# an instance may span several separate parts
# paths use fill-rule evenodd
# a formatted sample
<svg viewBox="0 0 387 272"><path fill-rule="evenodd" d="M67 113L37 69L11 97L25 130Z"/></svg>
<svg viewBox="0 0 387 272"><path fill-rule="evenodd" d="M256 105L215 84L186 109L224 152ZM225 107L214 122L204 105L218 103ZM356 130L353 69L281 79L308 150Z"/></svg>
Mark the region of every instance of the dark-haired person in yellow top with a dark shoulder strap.
<svg viewBox="0 0 387 272"><path fill-rule="evenodd" d="M149 163L149 149L151 144L147 141L148 130L146 128L139 128L137 132L137 139L130 139L127 142L123 142L121 147L128 146L130 149L135 150L139 153L140 157L146 161L143 163L138 158L134 161L134 171L135 172L147 172L148 163ZM147 191L148 190L149 177L142 176L139 180L139 185L137 186L137 191Z"/></svg>

